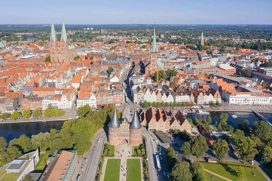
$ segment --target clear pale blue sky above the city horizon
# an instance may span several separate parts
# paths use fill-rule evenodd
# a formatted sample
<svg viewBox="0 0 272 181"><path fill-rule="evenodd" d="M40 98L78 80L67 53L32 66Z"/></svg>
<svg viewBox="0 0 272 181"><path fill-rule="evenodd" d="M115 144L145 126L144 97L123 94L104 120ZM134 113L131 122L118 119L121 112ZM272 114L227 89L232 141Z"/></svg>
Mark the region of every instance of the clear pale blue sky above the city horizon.
<svg viewBox="0 0 272 181"><path fill-rule="evenodd" d="M0 24L272 24L271 0L11 0Z"/></svg>

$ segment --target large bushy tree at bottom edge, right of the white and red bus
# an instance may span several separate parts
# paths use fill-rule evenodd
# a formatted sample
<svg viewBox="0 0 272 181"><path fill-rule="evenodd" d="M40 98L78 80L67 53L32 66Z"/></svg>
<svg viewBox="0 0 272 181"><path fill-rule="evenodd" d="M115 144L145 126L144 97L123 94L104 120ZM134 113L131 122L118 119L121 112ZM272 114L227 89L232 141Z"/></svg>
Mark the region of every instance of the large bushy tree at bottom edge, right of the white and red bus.
<svg viewBox="0 0 272 181"><path fill-rule="evenodd" d="M171 176L175 181L191 181L192 174L190 172L190 164L187 161L178 161L171 171Z"/></svg>

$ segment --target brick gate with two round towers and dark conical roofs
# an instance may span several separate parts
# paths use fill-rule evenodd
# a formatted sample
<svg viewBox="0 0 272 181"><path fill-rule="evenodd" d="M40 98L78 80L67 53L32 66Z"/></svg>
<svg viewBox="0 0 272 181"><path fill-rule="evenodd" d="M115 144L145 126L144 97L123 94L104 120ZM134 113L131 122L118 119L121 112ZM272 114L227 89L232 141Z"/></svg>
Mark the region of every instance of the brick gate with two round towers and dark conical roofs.
<svg viewBox="0 0 272 181"><path fill-rule="evenodd" d="M138 146L142 143L142 125L136 111L134 111L131 122L126 117L120 122L116 110L114 110L112 120L108 126L108 142L110 145L121 144L123 140L133 146Z"/></svg>

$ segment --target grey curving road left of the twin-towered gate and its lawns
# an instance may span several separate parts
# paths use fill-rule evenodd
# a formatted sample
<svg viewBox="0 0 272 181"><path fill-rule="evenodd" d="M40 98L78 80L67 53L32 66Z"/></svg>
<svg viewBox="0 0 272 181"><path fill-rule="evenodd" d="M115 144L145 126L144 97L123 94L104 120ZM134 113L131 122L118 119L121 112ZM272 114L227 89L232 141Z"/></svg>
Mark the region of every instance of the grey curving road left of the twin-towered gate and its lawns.
<svg viewBox="0 0 272 181"><path fill-rule="evenodd" d="M98 134L95 134L91 149L85 153L87 164L83 166L83 174L81 174L81 170L79 170L78 174L81 174L80 181L95 180L100 154L103 148L104 139L106 138L105 131L107 131L107 129L102 129ZM97 142L98 139L100 139L100 142Z"/></svg>

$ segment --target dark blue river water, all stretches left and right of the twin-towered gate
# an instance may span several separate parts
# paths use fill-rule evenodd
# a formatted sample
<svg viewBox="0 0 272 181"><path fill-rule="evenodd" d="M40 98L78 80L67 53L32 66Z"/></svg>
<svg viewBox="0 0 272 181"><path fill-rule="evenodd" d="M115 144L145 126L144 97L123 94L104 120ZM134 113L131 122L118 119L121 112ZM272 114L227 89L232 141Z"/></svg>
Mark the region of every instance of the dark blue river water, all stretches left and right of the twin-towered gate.
<svg viewBox="0 0 272 181"><path fill-rule="evenodd" d="M249 121L249 127L252 126L254 121L258 121L258 118L253 113L245 113L245 112L210 112L208 116L212 118L212 124L219 123L219 118L221 113L227 113L229 115L227 124L230 124L234 128L239 123L243 123L244 119ZM186 118L194 119L195 113L188 113ZM233 118L231 117L232 114L236 114L238 117ZM262 114L262 113L261 113ZM272 114L266 113L262 114L264 117L268 118L268 120L272 120ZM3 123L0 124L0 136L3 136L7 143L14 138L19 138L21 135L25 134L29 138L32 135L36 135L40 132L49 132L51 128L55 128L57 130L61 129L64 121L47 121L46 123L42 122L30 122L30 123L12 123L7 124Z"/></svg>

